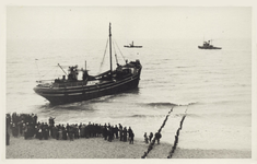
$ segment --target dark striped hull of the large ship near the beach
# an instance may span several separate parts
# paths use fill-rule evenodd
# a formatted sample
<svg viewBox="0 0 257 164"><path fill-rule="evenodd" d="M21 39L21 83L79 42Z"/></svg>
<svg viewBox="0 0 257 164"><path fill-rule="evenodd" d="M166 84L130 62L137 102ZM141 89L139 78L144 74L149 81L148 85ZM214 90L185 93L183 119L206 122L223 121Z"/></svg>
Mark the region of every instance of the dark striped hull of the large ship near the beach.
<svg viewBox="0 0 257 164"><path fill-rule="evenodd" d="M80 85L71 87L35 87L34 91L45 97L50 104L68 104L73 102L89 101L105 95L117 94L138 87L140 73L130 75L124 80L103 82L96 85Z"/></svg>

